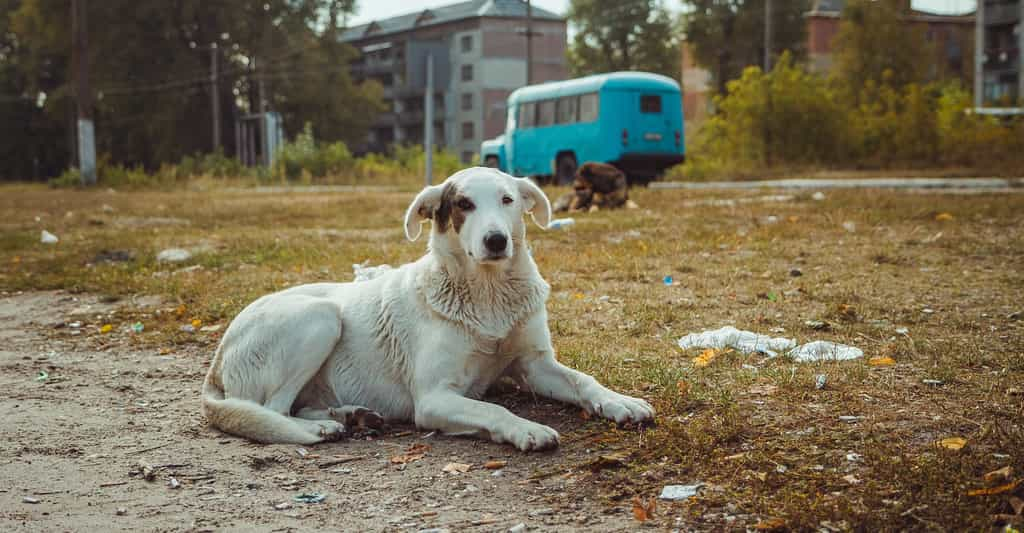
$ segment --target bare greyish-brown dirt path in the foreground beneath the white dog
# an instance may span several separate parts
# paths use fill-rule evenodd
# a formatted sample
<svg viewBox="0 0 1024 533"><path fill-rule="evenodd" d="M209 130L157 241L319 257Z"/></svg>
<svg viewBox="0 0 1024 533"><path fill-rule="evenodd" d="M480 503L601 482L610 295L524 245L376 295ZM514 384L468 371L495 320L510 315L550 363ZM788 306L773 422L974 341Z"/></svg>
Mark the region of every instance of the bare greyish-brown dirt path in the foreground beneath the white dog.
<svg viewBox="0 0 1024 533"><path fill-rule="evenodd" d="M147 304L156 302L130 303ZM95 334L120 305L65 293L0 296L0 530L637 529L626 502L601 504L571 477L530 479L588 460L572 439L582 425L573 411L512 401L566 438L547 454L413 428L305 450L255 445L208 429L199 412L207 348L161 354L132 348L130 332ZM83 325L54 328L75 320ZM422 459L389 460L421 443L430 446ZM321 468L336 455L358 458ZM482 469L489 460L507 467ZM449 462L474 468L447 474ZM155 469L153 481L140 464ZM293 501L309 492L326 499Z"/></svg>

